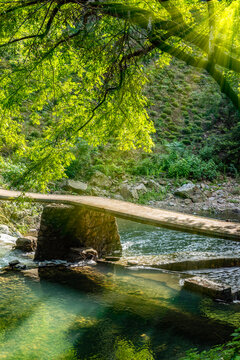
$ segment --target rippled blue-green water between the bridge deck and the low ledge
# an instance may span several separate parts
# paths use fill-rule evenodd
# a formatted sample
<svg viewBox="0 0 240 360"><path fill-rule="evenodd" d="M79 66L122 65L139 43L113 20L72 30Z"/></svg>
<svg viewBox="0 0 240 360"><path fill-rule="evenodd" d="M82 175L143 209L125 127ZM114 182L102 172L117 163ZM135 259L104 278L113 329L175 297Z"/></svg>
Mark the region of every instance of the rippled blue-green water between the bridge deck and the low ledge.
<svg viewBox="0 0 240 360"><path fill-rule="evenodd" d="M124 256L195 253L240 257L240 242L118 221Z"/></svg>

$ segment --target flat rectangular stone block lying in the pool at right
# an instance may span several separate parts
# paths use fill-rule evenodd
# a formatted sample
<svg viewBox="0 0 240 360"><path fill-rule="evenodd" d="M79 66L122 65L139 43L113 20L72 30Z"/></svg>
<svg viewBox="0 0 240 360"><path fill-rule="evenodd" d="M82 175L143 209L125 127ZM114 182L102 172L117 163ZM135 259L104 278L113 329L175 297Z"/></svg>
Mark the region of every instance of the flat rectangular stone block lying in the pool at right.
<svg viewBox="0 0 240 360"><path fill-rule="evenodd" d="M222 300L226 302L233 300L232 291L229 286L218 284L200 276L194 276L193 278L186 279L183 287L186 290L207 295L215 300Z"/></svg>

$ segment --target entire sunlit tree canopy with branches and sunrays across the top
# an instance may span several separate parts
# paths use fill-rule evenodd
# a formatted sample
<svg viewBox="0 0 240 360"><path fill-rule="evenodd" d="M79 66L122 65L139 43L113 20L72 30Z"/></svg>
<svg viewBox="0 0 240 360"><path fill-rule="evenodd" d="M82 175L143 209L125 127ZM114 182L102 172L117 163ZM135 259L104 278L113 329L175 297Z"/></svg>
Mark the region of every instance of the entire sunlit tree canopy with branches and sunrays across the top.
<svg viewBox="0 0 240 360"><path fill-rule="evenodd" d="M149 61L203 67L239 105L237 0L3 0L0 15L0 146L24 164L15 185L61 178L79 139L150 151Z"/></svg>

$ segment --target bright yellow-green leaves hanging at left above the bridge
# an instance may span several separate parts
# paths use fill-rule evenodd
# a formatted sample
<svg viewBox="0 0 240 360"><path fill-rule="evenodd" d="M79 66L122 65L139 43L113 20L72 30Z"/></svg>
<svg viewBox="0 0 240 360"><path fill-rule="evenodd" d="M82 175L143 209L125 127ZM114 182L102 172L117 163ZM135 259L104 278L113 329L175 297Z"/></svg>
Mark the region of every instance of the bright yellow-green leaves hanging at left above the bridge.
<svg viewBox="0 0 240 360"><path fill-rule="evenodd" d="M45 10L44 6L36 10L33 18L28 10L16 12L16 23L10 22L14 29L21 25L20 14L27 16L16 36L41 32L36 17L43 19ZM17 146L19 161L26 164L14 186L25 182L44 190L49 181L62 178L79 138L94 146L115 139L121 149L150 151L154 127L144 108L146 78L137 63L128 66L124 60L129 41L124 26L102 18L84 27L66 5L46 38L16 42L10 55L2 50L0 111L6 119L0 125L2 144ZM64 27L70 35L79 35L62 41ZM5 41L10 41L10 33L8 37L4 31ZM39 128L40 137L29 141L33 126Z"/></svg>

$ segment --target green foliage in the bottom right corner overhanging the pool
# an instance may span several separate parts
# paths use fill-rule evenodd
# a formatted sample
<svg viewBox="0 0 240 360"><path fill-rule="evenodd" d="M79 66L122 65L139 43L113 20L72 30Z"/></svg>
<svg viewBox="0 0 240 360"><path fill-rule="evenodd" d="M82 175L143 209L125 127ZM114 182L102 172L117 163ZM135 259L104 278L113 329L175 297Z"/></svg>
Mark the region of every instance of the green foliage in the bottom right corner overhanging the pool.
<svg viewBox="0 0 240 360"><path fill-rule="evenodd" d="M233 334L233 340L199 353L190 350L181 360L240 360L240 329Z"/></svg>

